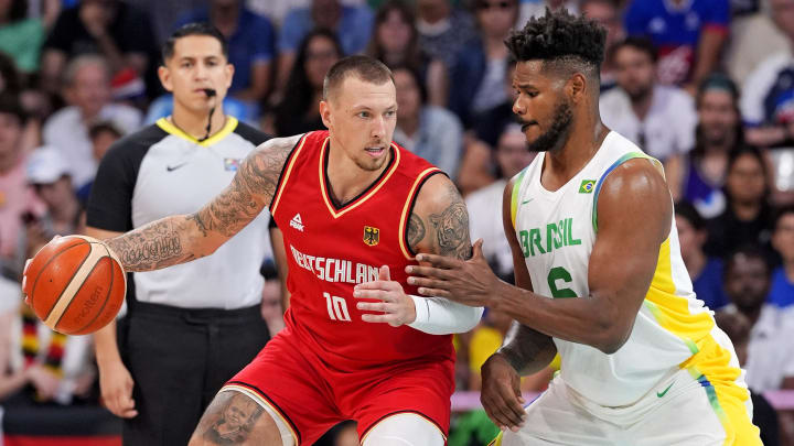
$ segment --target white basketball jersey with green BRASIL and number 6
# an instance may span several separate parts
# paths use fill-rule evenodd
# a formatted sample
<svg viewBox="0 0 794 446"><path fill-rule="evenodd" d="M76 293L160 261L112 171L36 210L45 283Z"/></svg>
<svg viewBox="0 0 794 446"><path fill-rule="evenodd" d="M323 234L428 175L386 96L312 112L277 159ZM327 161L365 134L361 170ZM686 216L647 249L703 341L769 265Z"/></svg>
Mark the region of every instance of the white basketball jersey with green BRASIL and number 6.
<svg viewBox="0 0 794 446"><path fill-rule="evenodd" d="M513 227L535 293L549 298L589 298L588 266L598 238L599 192L612 170L635 157L658 166L656 160L613 131L592 160L558 191L540 185L544 153L516 175ZM583 344L554 339L565 382L599 405L637 401L697 353L713 327L711 312L695 298L680 257L675 219L658 255L634 329L620 350L605 355Z"/></svg>

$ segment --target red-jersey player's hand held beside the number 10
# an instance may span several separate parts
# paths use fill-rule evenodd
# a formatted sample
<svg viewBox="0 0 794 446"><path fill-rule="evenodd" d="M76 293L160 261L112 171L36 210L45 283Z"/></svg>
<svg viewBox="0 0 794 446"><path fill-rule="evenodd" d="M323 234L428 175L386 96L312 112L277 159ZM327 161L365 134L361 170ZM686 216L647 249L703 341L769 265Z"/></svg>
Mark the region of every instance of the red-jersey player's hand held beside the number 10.
<svg viewBox="0 0 794 446"><path fill-rule="evenodd" d="M365 313L362 315L364 322L387 323L393 327L399 327L416 320L414 300L403 291L403 285L389 278L389 269L386 265L380 266L380 270L378 270L378 280L356 285L353 297L382 301L358 302L356 304L356 308L361 311L383 313Z"/></svg>

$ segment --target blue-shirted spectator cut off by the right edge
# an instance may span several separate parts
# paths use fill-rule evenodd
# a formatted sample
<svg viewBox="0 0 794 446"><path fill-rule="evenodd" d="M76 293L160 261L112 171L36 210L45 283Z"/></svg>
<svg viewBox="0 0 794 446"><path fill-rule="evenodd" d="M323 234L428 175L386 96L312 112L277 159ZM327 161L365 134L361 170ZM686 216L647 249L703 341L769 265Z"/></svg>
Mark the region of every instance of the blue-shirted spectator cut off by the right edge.
<svg viewBox="0 0 794 446"><path fill-rule="evenodd" d="M794 304L794 207L782 208L775 218L772 247L783 264L772 272L769 302L777 306Z"/></svg>

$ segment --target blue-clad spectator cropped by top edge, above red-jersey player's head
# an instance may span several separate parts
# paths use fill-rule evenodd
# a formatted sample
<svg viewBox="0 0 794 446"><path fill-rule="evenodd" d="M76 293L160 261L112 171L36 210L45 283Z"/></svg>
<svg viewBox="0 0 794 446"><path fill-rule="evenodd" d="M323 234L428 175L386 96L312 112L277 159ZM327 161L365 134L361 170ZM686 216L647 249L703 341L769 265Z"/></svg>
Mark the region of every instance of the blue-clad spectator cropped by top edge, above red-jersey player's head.
<svg viewBox="0 0 794 446"><path fill-rule="evenodd" d="M309 8L287 13L279 34L278 85L287 85L296 54L303 37L313 29L331 30L344 55L364 52L372 36L373 12L367 6L346 7L340 0L312 0Z"/></svg>

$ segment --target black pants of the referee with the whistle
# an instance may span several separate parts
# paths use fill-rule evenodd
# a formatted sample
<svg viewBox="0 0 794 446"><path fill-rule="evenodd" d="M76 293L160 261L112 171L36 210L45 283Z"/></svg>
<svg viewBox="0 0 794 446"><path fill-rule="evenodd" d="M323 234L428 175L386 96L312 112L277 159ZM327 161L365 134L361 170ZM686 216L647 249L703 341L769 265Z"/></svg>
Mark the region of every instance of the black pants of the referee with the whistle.
<svg viewBox="0 0 794 446"><path fill-rule="evenodd" d="M259 306L185 309L135 302L119 336L138 416L126 446L186 445L204 409L270 338Z"/></svg>

